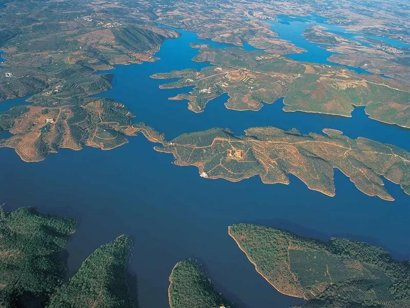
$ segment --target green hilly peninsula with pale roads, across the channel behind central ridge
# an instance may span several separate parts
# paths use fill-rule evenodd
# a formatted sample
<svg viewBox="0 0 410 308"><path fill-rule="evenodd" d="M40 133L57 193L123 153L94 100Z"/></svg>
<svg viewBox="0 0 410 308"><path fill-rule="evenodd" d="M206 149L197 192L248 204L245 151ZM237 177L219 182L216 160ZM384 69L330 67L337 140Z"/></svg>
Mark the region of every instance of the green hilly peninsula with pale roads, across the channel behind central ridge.
<svg viewBox="0 0 410 308"><path fill-rule="evenodd" d="M277 54L239 48L199 48L194 61L213 66L160 73L153 78L180 78L162 89L195 86L190 93L170 99L188 99L189 109L201 112L208 101L228 93L225 106L254 110L284 96L284 111L305 111L351 116L353 106L366 106L371 118L410 127L410 88L376 75L290 60Z"/></svg>

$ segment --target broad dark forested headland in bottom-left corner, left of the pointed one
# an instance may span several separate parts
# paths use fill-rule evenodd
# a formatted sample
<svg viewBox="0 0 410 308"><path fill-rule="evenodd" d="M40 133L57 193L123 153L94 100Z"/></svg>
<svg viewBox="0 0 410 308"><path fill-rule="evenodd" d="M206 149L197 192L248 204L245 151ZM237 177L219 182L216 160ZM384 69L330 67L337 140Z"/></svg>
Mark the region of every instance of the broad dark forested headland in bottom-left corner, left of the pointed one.
<svg viewBox="0 0 410 308"><path fill-rule="evenodd" d="M0 306L42 304L61 282L63 251L75 220L0 208Z"/></svg>

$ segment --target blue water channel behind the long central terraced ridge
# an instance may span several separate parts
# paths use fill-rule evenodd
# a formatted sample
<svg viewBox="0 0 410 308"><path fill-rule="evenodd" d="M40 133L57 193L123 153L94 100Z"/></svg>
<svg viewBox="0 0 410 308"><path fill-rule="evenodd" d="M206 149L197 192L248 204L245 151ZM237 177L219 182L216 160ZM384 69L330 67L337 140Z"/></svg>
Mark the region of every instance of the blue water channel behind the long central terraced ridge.
<svg viewBox="0 0 410 308"><path fill-rule="evenodd" d="M143 65L120 65L114 70L106 71L114 74L113 88L97 96L111 97L127 105L136 115L135 122L145 122L156 130L164 132L168 139L182 133L214 127L227 127L235 134L243 134L245 129L255 126L276 126L282 129L295 127L305 134L320 133L323 128L333 128L343 131L349 137L367 137L392 143L410 151L408 142L410 129L372 120L365 114L364 107L355 108L352 117L283 112L283 100L278 99L274 104L264 105L257 112L238 112L228 110L224 106L228 100L228 95L224 94L210 101L203 112L194 113L188 110L187 101L168 100L168 97L188 92L192 88L159 90L159 86L169 80L149 78L151 74L189 67L199 70L209 66L208 63L197 63L191 60L198 54L198 50L190 48L190 42L212 44L214 47L231 46L211 42L211 40L198 40L195 33L178 31L182 32L182 36L163 43L156 54L162 60ZM176 58L178 61L174 60Z"/></svg>

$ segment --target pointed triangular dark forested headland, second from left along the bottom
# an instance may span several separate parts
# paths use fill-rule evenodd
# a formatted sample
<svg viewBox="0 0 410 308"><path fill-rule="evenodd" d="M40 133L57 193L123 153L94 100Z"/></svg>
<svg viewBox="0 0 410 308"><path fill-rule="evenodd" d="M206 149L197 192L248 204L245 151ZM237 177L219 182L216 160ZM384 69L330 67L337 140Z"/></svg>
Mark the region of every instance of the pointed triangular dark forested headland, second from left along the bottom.
<svg viewBox="0 0 410 308"><path fill-rule="evenodd" d="M132 308L125 267L132 248L126 235L93 252L51 296L47 308Z"/></svg>

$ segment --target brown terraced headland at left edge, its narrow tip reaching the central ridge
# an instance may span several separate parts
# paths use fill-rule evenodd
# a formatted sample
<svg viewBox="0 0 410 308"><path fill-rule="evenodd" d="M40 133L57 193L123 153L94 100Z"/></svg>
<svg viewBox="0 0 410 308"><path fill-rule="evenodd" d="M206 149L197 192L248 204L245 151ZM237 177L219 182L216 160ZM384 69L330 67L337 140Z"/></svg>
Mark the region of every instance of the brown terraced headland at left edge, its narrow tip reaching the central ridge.
<svg viewBox="0 0 410 308"><path fill-rule="evenodd" d="M111 150L127 143L126 136L144 134L153 142L163 139L144 124L133 124L134 115L108 98L89 98L79 104L65 101L52 107L18 106L0 113L0 131L13 135L0 147L13 148L24 161L40 161L59 148L80 150L84 146Z"/></svg>

